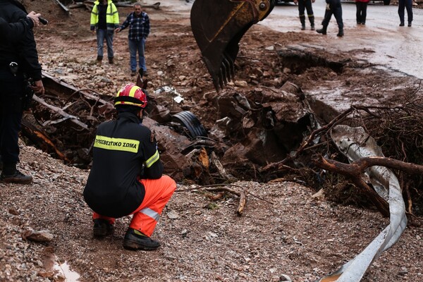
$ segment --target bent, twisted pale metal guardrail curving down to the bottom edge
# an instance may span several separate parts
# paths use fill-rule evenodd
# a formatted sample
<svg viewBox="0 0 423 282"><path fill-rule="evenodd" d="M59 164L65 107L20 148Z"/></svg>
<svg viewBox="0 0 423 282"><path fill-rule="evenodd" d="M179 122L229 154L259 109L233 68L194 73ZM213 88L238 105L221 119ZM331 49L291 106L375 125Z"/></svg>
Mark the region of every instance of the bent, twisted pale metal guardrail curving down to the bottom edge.
<svg viewBox="0 0 423 282"><path fill-rule="evenodd" d="M376 141L367 135L363 128L337 125L333 128L331 137L350 162L363 157L384 157ZM367 174L372 183L378 187L376 192L388 201L391 222L359 255L337 271L321 278L320 282L360 281L369 266L381 255L381 252L388 250L398 241L407 226L405 203L395 174L384 166L372 166L367 169Z"/></svg>

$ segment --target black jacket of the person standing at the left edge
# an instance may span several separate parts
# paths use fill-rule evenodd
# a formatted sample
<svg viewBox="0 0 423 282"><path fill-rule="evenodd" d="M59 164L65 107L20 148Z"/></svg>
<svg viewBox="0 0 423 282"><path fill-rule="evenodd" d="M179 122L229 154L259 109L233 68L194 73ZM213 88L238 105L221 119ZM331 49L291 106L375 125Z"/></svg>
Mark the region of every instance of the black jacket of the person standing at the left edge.
<svg viewBox="0 0 423 282"><path fill-rule="evenodd" d="M4 18L7 23L17 23L26 16L27 12L19 2L0 0L0 17ZM19 42L0 42L0 63L10 63L11 61L19 63L21 70L30 78L41 80L42 68L38 62L37 45L32 30L27 30Z"/></svg>

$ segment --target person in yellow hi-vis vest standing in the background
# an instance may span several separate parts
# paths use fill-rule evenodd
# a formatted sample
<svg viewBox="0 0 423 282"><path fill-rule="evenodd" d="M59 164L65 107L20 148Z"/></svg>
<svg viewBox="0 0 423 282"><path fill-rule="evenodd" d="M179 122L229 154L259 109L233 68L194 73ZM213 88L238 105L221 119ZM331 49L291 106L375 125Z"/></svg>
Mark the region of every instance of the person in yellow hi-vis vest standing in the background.
<svg viewBox="0 0 423 282"><path fill-rule="evenodd" d="M114 63L113 34L119 27L118 9L111 0L96 0L91 11L90 29L97 33L97 65L102 66L103 44L106 39L109 63Z"/></svg>

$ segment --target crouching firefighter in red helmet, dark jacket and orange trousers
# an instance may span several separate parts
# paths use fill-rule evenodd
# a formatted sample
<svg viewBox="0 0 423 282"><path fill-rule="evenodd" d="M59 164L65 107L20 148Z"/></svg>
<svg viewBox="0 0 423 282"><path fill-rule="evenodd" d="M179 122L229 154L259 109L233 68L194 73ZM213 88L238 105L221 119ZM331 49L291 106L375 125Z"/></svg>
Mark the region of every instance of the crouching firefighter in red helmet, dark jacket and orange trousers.
<svg viewBox="0 0 423 282"><path fill-rule="evenodd" d="M93 235L112 234L116 218L133 214L123 247L156 250L160 243L150 236L176 183L162 174L157 142L152 131L142 125L145 90L125 85L114 102L118 117L97 128L92 168L84 189L85 202L94 211Z"/></svg>

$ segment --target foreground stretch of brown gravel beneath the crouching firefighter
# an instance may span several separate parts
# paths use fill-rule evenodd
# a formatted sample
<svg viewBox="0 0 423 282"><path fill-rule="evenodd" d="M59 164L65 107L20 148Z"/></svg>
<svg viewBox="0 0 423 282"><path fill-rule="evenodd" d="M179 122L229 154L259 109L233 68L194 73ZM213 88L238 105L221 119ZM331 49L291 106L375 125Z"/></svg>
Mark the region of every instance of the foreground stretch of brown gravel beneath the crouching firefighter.
<svg viewBox="0 0 423 282"><path fill-rule="evenodd" d="M283 281L283 275L316 281L354 257L388 224L376 211L343 207L283 180L234 183L251 193L243 216L235 214L237 197L210 200L201 189L178 192L192 188L178 185L153 235L162 247L131 252L122 247L129 217L117 220L113 236L92 237L91 212L82 198L88 171L34 147L21 150L19 166L35 181L0 184L1 281L61 281L45 269L48 248L58 263L80 275L79 281ZM423 281L422 223L413 219L362 281ZM54 238L23 240L27 230Z"/></svg>

